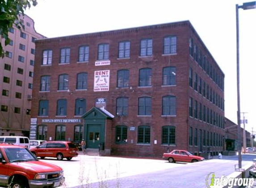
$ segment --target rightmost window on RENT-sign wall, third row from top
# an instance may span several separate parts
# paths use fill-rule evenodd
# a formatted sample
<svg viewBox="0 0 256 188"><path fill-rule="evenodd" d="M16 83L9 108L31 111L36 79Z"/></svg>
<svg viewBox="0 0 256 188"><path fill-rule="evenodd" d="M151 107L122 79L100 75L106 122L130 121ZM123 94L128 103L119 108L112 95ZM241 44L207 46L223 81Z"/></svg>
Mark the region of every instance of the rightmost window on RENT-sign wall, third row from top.
<svg viewBox="0 0 256 188"><path fill-rule="evenodd" d="M163 115L176 115L176 97L164 96L163 97Z"/></svg>

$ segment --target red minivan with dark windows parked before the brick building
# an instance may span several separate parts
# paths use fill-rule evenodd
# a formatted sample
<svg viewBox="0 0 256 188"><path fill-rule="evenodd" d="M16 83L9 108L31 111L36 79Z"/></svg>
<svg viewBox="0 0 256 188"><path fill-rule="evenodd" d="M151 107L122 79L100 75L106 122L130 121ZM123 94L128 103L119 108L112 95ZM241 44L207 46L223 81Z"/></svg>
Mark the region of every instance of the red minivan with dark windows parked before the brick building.
<svg viewBox="0 0 256 188"><path fill-rule="evenodd" d="M37 157L44 159L45 157L56 157L57 160L71 160L77 157L77 147L69 141L49 141L41 145L31 148L30 151Z"/></svg>

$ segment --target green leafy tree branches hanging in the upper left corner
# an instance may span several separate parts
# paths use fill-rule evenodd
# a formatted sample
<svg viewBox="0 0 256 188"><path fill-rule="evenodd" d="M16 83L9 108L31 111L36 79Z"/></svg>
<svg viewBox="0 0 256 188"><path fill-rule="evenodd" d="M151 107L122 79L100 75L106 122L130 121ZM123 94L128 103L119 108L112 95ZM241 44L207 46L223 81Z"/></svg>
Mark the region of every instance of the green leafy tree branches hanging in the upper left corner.
<svg viewBox="0 0 256 188"><path fill-rule="evenodd" d="M36 6L37 0L0 0L0 57L4 57L1 39L5 39L4 45L8 45L8 29L16 25L18 29L24 29L20 16L24 16L24 10Z"/></svg>

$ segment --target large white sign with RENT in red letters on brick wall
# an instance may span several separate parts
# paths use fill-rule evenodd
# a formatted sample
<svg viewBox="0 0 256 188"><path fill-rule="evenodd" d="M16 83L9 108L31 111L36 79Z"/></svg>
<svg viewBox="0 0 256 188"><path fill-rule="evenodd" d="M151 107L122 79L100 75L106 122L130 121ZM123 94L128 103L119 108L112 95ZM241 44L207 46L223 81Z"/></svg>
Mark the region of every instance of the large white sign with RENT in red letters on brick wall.
<svg viewBox="0 0 256 188"><path fill-rule="evenodd" d="M94 88L93 91L109 91L110 70L94 71Z"/></svg>

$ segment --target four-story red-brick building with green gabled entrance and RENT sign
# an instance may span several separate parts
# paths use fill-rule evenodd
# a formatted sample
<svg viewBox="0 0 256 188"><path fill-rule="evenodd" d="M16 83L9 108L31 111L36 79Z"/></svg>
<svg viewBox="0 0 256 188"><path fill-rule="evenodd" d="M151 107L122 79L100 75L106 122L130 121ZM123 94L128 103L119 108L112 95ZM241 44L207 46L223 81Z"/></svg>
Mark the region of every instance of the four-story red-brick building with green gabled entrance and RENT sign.
<svg viewBox="0 0 256 188"><path fill-rule="evenodd" d="M38 40L34 73L38 139L223 150L224 74L189 21Z"/></svg>

